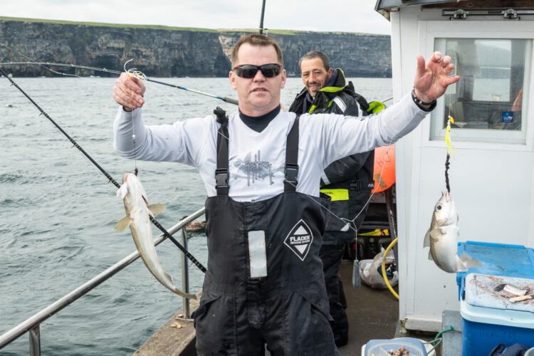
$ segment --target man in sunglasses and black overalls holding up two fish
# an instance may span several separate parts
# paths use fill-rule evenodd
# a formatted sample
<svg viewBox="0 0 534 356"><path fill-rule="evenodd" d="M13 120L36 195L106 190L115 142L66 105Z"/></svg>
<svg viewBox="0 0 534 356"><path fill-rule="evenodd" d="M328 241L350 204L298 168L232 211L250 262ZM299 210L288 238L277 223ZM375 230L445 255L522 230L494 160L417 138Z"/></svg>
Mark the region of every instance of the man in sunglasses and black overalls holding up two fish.
<svg viewBox="0 0 534 356"><path fill-rule="evenodd" d="M114 146L123 157L182 162L204 181L208 268L194 313L199 355L339 355L318 257L328 216L320 174L341 157L389 145L414 129L459 78L450 58L419 56L408 95L373 120L281 110L286 84L276 41L242 37L231 55L239 111L145 126L145 85L122 73ZM416 104L416 100L419 104ZM425 103L426 102L426 103ZM304 117L306 116L306 117ZM135 135L135 145L132 136Z"/></svg>

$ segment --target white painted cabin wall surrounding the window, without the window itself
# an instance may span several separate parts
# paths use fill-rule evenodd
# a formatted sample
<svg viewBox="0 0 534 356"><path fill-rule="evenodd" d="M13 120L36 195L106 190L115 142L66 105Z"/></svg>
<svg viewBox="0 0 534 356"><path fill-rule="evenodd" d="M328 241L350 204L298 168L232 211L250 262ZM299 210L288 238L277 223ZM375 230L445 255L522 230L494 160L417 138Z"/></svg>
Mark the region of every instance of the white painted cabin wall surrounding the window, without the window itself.
<svg viewBox="0 0 534 356"><path fill-rule="evenodd" d="M441 9L421 12L420 6L403 6L391 13L394 100L412 89L417 54L428 59L433 52L425 38L428 21L444 21ZM449 28L466 26L466 32L474 23L445 21ZM478 22L474 35L481 25ZM520 23L522 31L524 25ZM482 31L491 31L488 28L491 25ZM442 36L447 37L446 31ZM532 79L528 100L534 103ZM523 117L528 125L526 145L456 143L449 178L459 210L460 241L534 246L534 107L528 112ZM430 115L395 145L399 320L410 330L439 331L441 313L459 310L459 301L456 274L437 268L428 260L429 249L423 248L434 204L445 190L446 147L444 142L429 141L429 122Z"/></svg>

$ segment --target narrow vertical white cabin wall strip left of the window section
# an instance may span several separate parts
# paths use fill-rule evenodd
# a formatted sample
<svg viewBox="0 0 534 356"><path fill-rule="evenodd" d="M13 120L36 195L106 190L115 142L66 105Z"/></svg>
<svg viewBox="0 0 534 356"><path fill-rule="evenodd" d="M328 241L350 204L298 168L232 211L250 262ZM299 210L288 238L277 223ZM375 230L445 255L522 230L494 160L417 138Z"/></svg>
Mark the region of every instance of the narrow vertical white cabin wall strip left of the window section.
<svg viewBox="0 0 534 356"><path fill-rule="evenodd" d="M391 13L392 21L392 76L394 100L399 100L409 93L414 85L417 67L419 12L414 7L403 7ZM424 53L421 53L424 54ZM425 120L429 120L426 117ZM417 244L417 206L419 206L419 187L417 177L420 169L419 127L410 135L403 137L395 145L397 172L397 224L399 237L399 320L407 321L408 325L414 318L420 319L417 328L432 330L441 315L432 315L425 310L424 304L416 299L421 281L417 276L417 259L413 258L422 246ZM429 319L431 325L428 324ZM413 323L412 323L413 324Z"/></svg>

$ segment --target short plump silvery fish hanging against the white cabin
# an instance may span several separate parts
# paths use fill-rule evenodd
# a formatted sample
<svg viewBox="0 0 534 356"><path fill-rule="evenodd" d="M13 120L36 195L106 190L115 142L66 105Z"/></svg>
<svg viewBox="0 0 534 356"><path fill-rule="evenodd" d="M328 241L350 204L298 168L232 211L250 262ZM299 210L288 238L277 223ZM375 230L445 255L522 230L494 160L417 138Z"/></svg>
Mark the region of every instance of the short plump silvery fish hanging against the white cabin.
<svg viewBox="0 0 534 356"><path fill-rule="evenodd" d="M469 267L481 266L481 262L467 253L458 257L458 212L451 194L445 192L434 206L429 231L424 236L423 247L430 247L429 260L445 272L465 272Z"/></svg>

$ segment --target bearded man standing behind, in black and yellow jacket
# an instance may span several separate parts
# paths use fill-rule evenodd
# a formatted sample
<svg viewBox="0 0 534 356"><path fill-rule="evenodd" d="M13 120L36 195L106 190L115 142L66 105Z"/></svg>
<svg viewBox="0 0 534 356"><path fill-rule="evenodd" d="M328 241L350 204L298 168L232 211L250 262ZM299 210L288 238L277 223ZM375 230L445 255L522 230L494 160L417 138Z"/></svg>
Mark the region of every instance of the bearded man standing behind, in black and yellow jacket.
<svg viewBox="0 0 534 356"><path fill-rule="evenodd" d="M355 93L352 83L345 82L340 68L330 68L330 59L325 53L311 51L298 62L300 78L304 83L290 105L289 111L297 114L333 113L344 116L367 116L370 105ZM383 108L373 103L373 107ZM319 257L323 261L325 286L330 302L330 315L334 319L332 330L335 345L347 345L349 323L347 302L339 269L345 244L352 243L367 212L367 200L373 188L374 151L360 152L343 157L325 168L320 177L320 192L331 198L330 211L323 235Z"/></svg>

